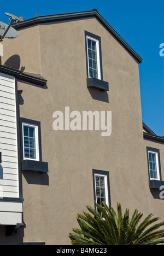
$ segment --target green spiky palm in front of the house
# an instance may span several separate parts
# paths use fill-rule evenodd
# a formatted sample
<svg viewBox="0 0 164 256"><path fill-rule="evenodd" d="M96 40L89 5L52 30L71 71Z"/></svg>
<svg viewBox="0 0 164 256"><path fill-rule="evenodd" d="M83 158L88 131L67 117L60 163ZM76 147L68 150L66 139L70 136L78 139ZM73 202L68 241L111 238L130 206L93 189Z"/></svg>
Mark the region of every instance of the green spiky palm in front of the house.
<svg viewBox="0 0 164 256"><path fill-rule="evenodd" d="M164 243L164 230L160 227L164 222L156 223L160 218L153 218L150 213L139 224L143 214L135 210L131 219L126 209L122 216L121 205L118 203L118 215L105 202L98 205L97 211L86 206L89 212L78 214L80 229L72 229L69 234L72 245L159 245ZM149 227L149 228L148 228Z"/></svg>

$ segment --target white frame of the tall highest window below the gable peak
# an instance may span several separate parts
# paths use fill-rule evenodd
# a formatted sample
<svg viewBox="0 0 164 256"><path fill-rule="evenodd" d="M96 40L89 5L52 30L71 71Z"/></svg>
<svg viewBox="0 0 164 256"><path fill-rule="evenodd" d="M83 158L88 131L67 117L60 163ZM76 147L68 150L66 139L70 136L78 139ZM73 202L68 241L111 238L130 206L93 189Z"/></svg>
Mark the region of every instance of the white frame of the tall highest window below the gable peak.
<svg viewBox="0 0 164 256"><path fill-rule="evenodd" d="M99 59L99 40L96 38L93 38L91 36L86 36L86 45L87 45L87 67L88 67L88 75L90 76L90 67L89 67L89 53L88 53L88 43L87 39L90 39L94 42L96 42L96 53L97 53L97 71L98 71L98 79L101 80L101 68L100 68L100 59Z"/></svg>

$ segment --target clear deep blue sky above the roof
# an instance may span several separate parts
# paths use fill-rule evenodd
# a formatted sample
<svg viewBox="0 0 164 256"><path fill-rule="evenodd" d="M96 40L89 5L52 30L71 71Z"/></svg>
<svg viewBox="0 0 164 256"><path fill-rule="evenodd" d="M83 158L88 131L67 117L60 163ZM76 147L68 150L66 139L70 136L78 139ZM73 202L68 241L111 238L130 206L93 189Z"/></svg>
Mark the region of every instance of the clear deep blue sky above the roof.
<svg viewBox="0 0 164 256"><path fill-rule="evenodd" d="M5 13L30 19L38 15L97 9L103 18L142 57L139 65L142 118L157 135L164 136L164 43L163 0L61 0L1 1L0 20Z"/></svg>

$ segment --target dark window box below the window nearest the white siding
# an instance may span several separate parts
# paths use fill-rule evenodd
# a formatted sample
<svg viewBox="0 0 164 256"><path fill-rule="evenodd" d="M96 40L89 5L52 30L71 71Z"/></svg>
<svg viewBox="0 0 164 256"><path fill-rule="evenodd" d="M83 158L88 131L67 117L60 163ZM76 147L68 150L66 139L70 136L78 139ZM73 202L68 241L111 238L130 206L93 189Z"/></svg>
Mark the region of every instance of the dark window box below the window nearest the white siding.
<svg viewBox="0 0 164 256"><path fill-rule="evenodd" d="M22 160L22 171L35 171L45 173L48 172L48 162L34 161L34 160Z"/></svg>

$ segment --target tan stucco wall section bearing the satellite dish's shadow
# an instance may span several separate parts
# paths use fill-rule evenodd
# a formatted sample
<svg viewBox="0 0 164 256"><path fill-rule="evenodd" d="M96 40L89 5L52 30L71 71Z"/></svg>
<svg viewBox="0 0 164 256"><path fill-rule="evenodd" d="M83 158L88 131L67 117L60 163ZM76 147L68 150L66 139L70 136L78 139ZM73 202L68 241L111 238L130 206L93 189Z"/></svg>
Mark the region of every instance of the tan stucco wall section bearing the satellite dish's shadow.
<svg viewBox="0 0 164 256"><path fill-rule="evenodd" d="M3 39L2 65L40 74L39 26L18 31L18 37Z"/></svg>

